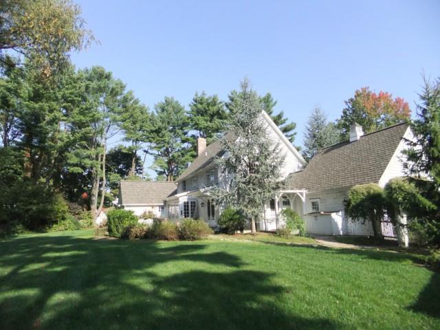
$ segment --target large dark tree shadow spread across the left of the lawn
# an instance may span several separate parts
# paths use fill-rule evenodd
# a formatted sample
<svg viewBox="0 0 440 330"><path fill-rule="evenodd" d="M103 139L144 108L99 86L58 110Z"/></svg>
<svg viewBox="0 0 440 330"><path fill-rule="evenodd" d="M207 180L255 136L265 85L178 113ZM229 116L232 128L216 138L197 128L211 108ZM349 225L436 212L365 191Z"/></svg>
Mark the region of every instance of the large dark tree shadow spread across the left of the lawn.
<svg viewBox="0 0 440 330"><path fill-rule="evenodd" d="M287 314L285 289L271 283L272 274L242 270L245 263L225 252L198 253L205 248L72 236L0 241L7 271L0 274L0 329L340 327Z"/></svg>

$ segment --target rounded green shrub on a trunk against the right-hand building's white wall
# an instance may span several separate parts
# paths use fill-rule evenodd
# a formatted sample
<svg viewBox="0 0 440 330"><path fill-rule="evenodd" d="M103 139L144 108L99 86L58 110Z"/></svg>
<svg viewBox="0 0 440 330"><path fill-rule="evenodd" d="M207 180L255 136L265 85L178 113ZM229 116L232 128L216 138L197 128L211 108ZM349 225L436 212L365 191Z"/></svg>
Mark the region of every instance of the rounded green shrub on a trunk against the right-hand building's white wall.
<svg viewBox="0 0 440 330"><path fill-rule="evenodd" d="M384 190L378 184L360 184L349 190L345 212L353 221L371 221L374 236L381 236L380 219L386 212Z"/></svg>

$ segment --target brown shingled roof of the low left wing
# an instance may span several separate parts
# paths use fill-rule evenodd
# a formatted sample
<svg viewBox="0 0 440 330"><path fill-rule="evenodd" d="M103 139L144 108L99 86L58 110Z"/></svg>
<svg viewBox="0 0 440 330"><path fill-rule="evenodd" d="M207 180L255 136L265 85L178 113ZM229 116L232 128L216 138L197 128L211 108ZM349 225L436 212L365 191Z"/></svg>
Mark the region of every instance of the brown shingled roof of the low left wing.
<svg viewBox="0 0 440 330"><path fill-rule="evenodd" d="M157 205L175 193L177 184L166 181L120 181L120 205Z"/></svg>

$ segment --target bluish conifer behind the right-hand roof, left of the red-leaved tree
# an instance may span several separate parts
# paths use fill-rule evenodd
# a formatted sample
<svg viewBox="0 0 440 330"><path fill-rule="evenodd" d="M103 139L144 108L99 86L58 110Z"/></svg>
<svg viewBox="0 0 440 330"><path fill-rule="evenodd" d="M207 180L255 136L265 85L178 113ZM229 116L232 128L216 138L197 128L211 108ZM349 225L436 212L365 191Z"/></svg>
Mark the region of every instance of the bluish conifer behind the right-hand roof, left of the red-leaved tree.
<svg viewBox="0 0 440 330"><path fill-rule="evenodd" d="M332 122L327 122L327 116L320 107L312 111L304 133L304 158L309 161L320 148L340 142L340 133Z"/></svg>

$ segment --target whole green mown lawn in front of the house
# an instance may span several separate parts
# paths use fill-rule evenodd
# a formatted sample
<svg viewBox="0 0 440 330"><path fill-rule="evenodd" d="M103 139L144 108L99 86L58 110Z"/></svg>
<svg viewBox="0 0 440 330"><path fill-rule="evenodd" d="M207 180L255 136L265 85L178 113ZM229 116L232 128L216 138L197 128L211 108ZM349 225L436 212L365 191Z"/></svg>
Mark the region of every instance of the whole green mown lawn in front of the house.
<svg viewBox="0 0 440 330"><path fill-rule="evenodd" d="M411 256L258 242L0 241L0 329L440 329Z"/></svg>

